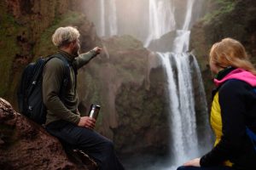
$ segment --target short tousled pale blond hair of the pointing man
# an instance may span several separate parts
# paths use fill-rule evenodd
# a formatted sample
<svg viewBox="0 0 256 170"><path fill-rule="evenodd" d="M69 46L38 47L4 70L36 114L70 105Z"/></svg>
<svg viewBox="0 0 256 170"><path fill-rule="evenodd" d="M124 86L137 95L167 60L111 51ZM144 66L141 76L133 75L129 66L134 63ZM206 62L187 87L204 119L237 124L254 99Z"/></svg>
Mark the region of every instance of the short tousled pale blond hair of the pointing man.
<svg viewBox="0 0 256 170"><path fill-rule="evenodd" d="M79 31L73 26L60 27L52 35L52 42L56 47L61 48L80 37Z"/></svg>

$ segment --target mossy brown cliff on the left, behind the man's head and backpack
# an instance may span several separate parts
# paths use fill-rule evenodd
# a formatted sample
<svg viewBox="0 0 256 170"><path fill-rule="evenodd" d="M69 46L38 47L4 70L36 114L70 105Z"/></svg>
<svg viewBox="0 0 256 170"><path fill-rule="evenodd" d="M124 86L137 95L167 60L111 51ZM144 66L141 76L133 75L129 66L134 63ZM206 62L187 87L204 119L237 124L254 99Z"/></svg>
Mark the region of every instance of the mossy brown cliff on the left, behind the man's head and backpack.
<svg viewBox="0 0 256 170"><path fill-rule="evenodd" d="M75 12L79 0L0 2L0 96L15 108L16 88L25 65L39 56L53 54L51 36L60 26L77 26L82 35L82 49L94 47L99 41L93 24L84 14Z"/></svg>

